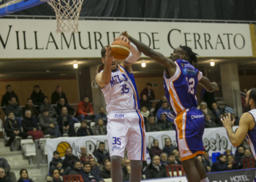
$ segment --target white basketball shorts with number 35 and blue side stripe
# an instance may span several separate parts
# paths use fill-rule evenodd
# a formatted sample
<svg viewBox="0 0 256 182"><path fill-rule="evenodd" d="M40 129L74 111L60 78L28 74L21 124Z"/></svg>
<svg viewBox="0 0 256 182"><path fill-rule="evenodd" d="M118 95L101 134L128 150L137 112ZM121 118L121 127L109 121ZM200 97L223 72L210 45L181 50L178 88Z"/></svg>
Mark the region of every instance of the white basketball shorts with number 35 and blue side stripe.
<svg viewBox="0 0 256 182"><path fill-rule="evenodd" d="M145 124L140 111L111 111L108 114L108 149L110 157L146 160Z"/></svg>

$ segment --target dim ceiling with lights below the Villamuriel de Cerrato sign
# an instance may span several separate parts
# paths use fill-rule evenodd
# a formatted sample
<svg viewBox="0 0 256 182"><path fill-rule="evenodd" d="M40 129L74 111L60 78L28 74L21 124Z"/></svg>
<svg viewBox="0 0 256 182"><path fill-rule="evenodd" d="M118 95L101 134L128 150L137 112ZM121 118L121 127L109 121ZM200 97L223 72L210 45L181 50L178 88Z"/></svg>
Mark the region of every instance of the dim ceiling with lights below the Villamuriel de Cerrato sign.
<svg viewBox="0 0 256 182"><path fill-rule="evenodd" d="M238 63L239 74L256 74L256 58L199 58L199 70L210 68L210 62L215 66L220 63ZM0 79L67 79L75 78L73 63L78 63L78 69L101 64L100 59L81 60L0 60ZM146 62L146 68L141 63ZM154 60L141 58L132 66L135 76L162 75L163 68Z"/></svg>

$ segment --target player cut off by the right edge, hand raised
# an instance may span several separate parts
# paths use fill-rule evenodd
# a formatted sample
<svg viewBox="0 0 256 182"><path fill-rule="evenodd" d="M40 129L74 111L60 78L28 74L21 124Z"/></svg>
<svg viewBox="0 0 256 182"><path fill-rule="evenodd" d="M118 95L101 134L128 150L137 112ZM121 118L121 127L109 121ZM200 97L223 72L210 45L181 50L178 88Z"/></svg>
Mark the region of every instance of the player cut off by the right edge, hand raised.
<svg viewBox="0 0 256 182"><path fill-rule="evenodd" d="M249 108L249 112L244 113L239 121L239 127L236 132L233 132L233 125L235 120L231 122L230 114L222 119L223 126L227 130L228 138L233 146L240 146L244 138L247 139L249 146L252 150L252 154L256 159L256 88L249 90L246 93L246 107ZM254 180L256 182L256 178Z"/></svg>

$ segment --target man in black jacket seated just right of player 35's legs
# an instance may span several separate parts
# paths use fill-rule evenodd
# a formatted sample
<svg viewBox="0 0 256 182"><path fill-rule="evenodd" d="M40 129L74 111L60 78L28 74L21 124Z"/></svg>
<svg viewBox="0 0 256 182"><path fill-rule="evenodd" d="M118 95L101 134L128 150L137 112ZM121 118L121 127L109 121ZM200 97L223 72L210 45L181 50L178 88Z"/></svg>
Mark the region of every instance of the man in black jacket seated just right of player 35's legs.
<svg viewBox="0 0 256 182"><path fill-rule="evenodd" d="M159 156L153 157L153 162L146 167L145 175L146 179L167 177L165 166L161 165Z"/></svg>

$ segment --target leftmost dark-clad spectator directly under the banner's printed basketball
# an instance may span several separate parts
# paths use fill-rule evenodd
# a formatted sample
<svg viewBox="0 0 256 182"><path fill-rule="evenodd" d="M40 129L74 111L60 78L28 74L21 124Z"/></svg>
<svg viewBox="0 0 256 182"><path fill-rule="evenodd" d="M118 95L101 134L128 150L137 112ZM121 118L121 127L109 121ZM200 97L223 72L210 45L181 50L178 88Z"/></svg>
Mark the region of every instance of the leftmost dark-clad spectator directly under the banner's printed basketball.
<svg viewBox="0 0 256 182"><path fill-rule="evenodd" d="M68 175L69 171L72 170L71 167L63 167L63 159L59 157L59 151L53 151L53 159L50 162L50 171L51 170L59 170L61 175Z"/></svg>

